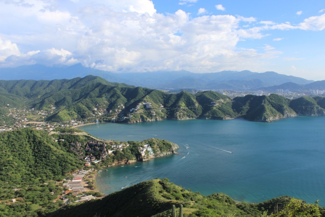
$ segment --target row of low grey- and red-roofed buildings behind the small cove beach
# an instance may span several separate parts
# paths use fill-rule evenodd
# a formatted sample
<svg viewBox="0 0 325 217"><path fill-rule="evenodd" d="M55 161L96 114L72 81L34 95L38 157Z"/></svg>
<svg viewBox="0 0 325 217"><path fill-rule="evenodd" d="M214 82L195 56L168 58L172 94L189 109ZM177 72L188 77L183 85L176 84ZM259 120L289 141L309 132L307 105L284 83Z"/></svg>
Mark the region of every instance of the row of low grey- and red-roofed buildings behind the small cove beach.
<svg viewBox="0 0 325 217"><path fill-rule="evenodd" d="M75 203L96 199L96 197L92 195L85 195L83 193L86 191L86 189L82 185L82 179L88 172L90 172L90 170L79 170L76 173L72 174L73 178L71 180L68 180L68 182L63 183L62 187L69 189L66 191L62 191L62 197L60 199L63 200L64 203L69 203L69 199L65 197L65 195L68 195L70 193L73 197L77 197L77 200L74 201Z"/></svg>

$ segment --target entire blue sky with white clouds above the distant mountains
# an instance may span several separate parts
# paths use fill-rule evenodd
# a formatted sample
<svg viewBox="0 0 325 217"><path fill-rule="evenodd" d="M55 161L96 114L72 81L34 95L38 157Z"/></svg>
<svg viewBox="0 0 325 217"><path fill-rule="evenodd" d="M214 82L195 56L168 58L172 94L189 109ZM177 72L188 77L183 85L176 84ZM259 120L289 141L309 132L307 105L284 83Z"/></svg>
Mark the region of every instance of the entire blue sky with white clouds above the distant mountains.
<svg viewBox="0 0 325 217"><path fill-rule="evenodd" d="M1 68L81 63L325 80L324 39L324 0L0 0Z"/></svg>

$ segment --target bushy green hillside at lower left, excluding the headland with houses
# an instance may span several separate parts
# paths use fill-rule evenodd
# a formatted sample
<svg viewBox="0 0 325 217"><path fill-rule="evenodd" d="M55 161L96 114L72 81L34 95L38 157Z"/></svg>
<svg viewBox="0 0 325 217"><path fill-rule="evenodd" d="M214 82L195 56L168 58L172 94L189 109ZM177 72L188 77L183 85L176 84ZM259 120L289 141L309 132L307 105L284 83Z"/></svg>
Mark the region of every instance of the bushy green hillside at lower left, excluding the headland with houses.
<svg viewBox="0 0 325 217"><path fill-rule="evenodd" d="M38 216L57 210L62 203L53 200L63 189L52 180L82 168L79 159L48 133L35 129L1 133L0 151L0 216ZM16 203L7 201L14 198Z"/></svg>

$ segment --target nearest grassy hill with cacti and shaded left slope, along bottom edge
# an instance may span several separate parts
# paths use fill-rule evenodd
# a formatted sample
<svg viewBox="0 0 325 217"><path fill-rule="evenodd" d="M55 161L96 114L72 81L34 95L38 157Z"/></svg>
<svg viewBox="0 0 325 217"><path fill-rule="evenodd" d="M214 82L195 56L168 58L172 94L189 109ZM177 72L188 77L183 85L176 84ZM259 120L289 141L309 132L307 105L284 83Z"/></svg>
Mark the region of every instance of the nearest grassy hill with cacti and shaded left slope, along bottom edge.
<svg viewBox="0 0 325 217"><path fill-rule="evenodd" d="M136 184L119 192L110 194L101 200L89 201L79 206L66 206L48 215L54 216L173 216L172 207L181 205L182 216L321 216L318 205L286 197L274 198L258 204L236 203L229 196L215 193L203 196L193 193L168 179L149 180ZM176 216L179 216L176 209ZM275 213L275 214L272 214Z"/></svg>

